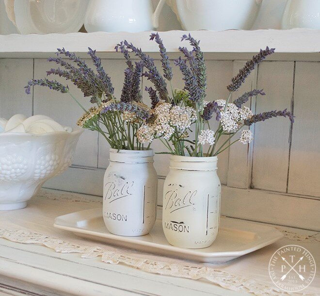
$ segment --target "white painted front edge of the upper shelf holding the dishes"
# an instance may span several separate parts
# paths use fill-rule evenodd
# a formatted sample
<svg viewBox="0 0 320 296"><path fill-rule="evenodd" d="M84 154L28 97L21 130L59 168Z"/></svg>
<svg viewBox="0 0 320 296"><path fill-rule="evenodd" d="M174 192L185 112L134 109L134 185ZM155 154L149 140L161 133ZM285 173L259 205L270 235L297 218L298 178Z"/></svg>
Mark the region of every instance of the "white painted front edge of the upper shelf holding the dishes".
<svg viewBox="0 0 320 296"><path fill-rule="evenodd" d="M161 38L168 52L178 51L176 44L184 31L161 32ZM201 40L204 52L254 53L260 48L275 47L279 53L308 53L317 55L320 49L320 30L227 30L227 31L193 31L192 36ZM140 33L68 33L68 34L29 34L0 35L0 56L10 56L11 53L55 52L57 47L65 47L70 51L86 52L88 46L101 52L113 52L114 46L121 40L141 47L144 51L158 52L155 42L150 42L150 32ZM232 40L232 42L225 42ZM34 55L33 55L34 56Z"/></svg>

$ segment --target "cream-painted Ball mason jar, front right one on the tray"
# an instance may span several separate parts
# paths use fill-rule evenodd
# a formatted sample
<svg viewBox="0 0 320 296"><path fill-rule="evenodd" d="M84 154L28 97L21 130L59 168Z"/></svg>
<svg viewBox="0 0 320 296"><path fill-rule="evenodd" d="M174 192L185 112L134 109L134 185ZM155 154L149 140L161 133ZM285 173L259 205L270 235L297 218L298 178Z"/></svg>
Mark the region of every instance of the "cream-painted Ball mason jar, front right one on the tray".
<svg viewBox="0 0 320 296"><path fill-rule="evenodd" d="M162 227L177 247L212 245L219 227L221 183L216 156L173 155L163 187Z"/></svg>

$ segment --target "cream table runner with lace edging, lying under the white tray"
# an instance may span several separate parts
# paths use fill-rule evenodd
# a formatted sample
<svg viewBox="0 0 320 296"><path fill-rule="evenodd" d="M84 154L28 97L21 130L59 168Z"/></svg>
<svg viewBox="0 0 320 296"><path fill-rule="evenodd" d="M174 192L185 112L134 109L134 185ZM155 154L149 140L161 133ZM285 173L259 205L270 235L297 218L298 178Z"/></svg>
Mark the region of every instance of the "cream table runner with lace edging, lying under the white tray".
<svg viewBox="0 0 320 296"><path fill-rule="evenodd" d="M27 208L0 214L0 238L22 244L43 245L56 252L80 253L83 258L99 256L105 263L122 263L150 273L208 280L226 289L255 295L288 295L273 285L268 272L269 260L280 247L305 247L320 266L320 233L308 230L277 227L285 235L282 240L229 263L213 265L88 242L71 232L53 228L56 216L96 208L99 204L102 204L100 197L43 190L32 198ZM320 295L320 277L317 274L312 284L300 292L301 295Z"/></svg>

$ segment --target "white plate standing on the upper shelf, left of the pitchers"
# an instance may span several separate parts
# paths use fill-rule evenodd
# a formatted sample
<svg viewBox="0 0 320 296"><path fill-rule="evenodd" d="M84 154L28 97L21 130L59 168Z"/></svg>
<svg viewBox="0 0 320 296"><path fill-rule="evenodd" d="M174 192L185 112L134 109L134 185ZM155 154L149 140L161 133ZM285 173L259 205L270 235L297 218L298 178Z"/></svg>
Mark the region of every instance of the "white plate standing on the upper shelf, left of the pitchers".
<svg viewBox="0 0 320 296"><path fill-rule="evenodd" d="M15 0L21 34L72 33L83 25L88 0Z"/></svg>

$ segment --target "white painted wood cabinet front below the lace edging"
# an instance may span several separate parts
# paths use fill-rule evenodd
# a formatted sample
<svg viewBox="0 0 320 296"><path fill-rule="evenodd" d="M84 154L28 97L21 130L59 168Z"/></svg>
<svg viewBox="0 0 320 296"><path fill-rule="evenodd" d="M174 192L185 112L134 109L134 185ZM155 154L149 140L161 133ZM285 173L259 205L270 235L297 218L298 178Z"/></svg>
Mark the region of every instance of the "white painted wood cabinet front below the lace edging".
<svg viewBox="0 0 320 296"><path fill-rule="evenodd" d="M16 286L17 280L34 285L29 289L36 293L37 287L42 287L42 291L55 291L54 295L77 296L239 295L206 281L159 276L121 264L106 264L99 258L86 260L79 254L56 253L42 246L1 240L0 253L0 283L5 275L12 279L11 285Z"/></svg>

